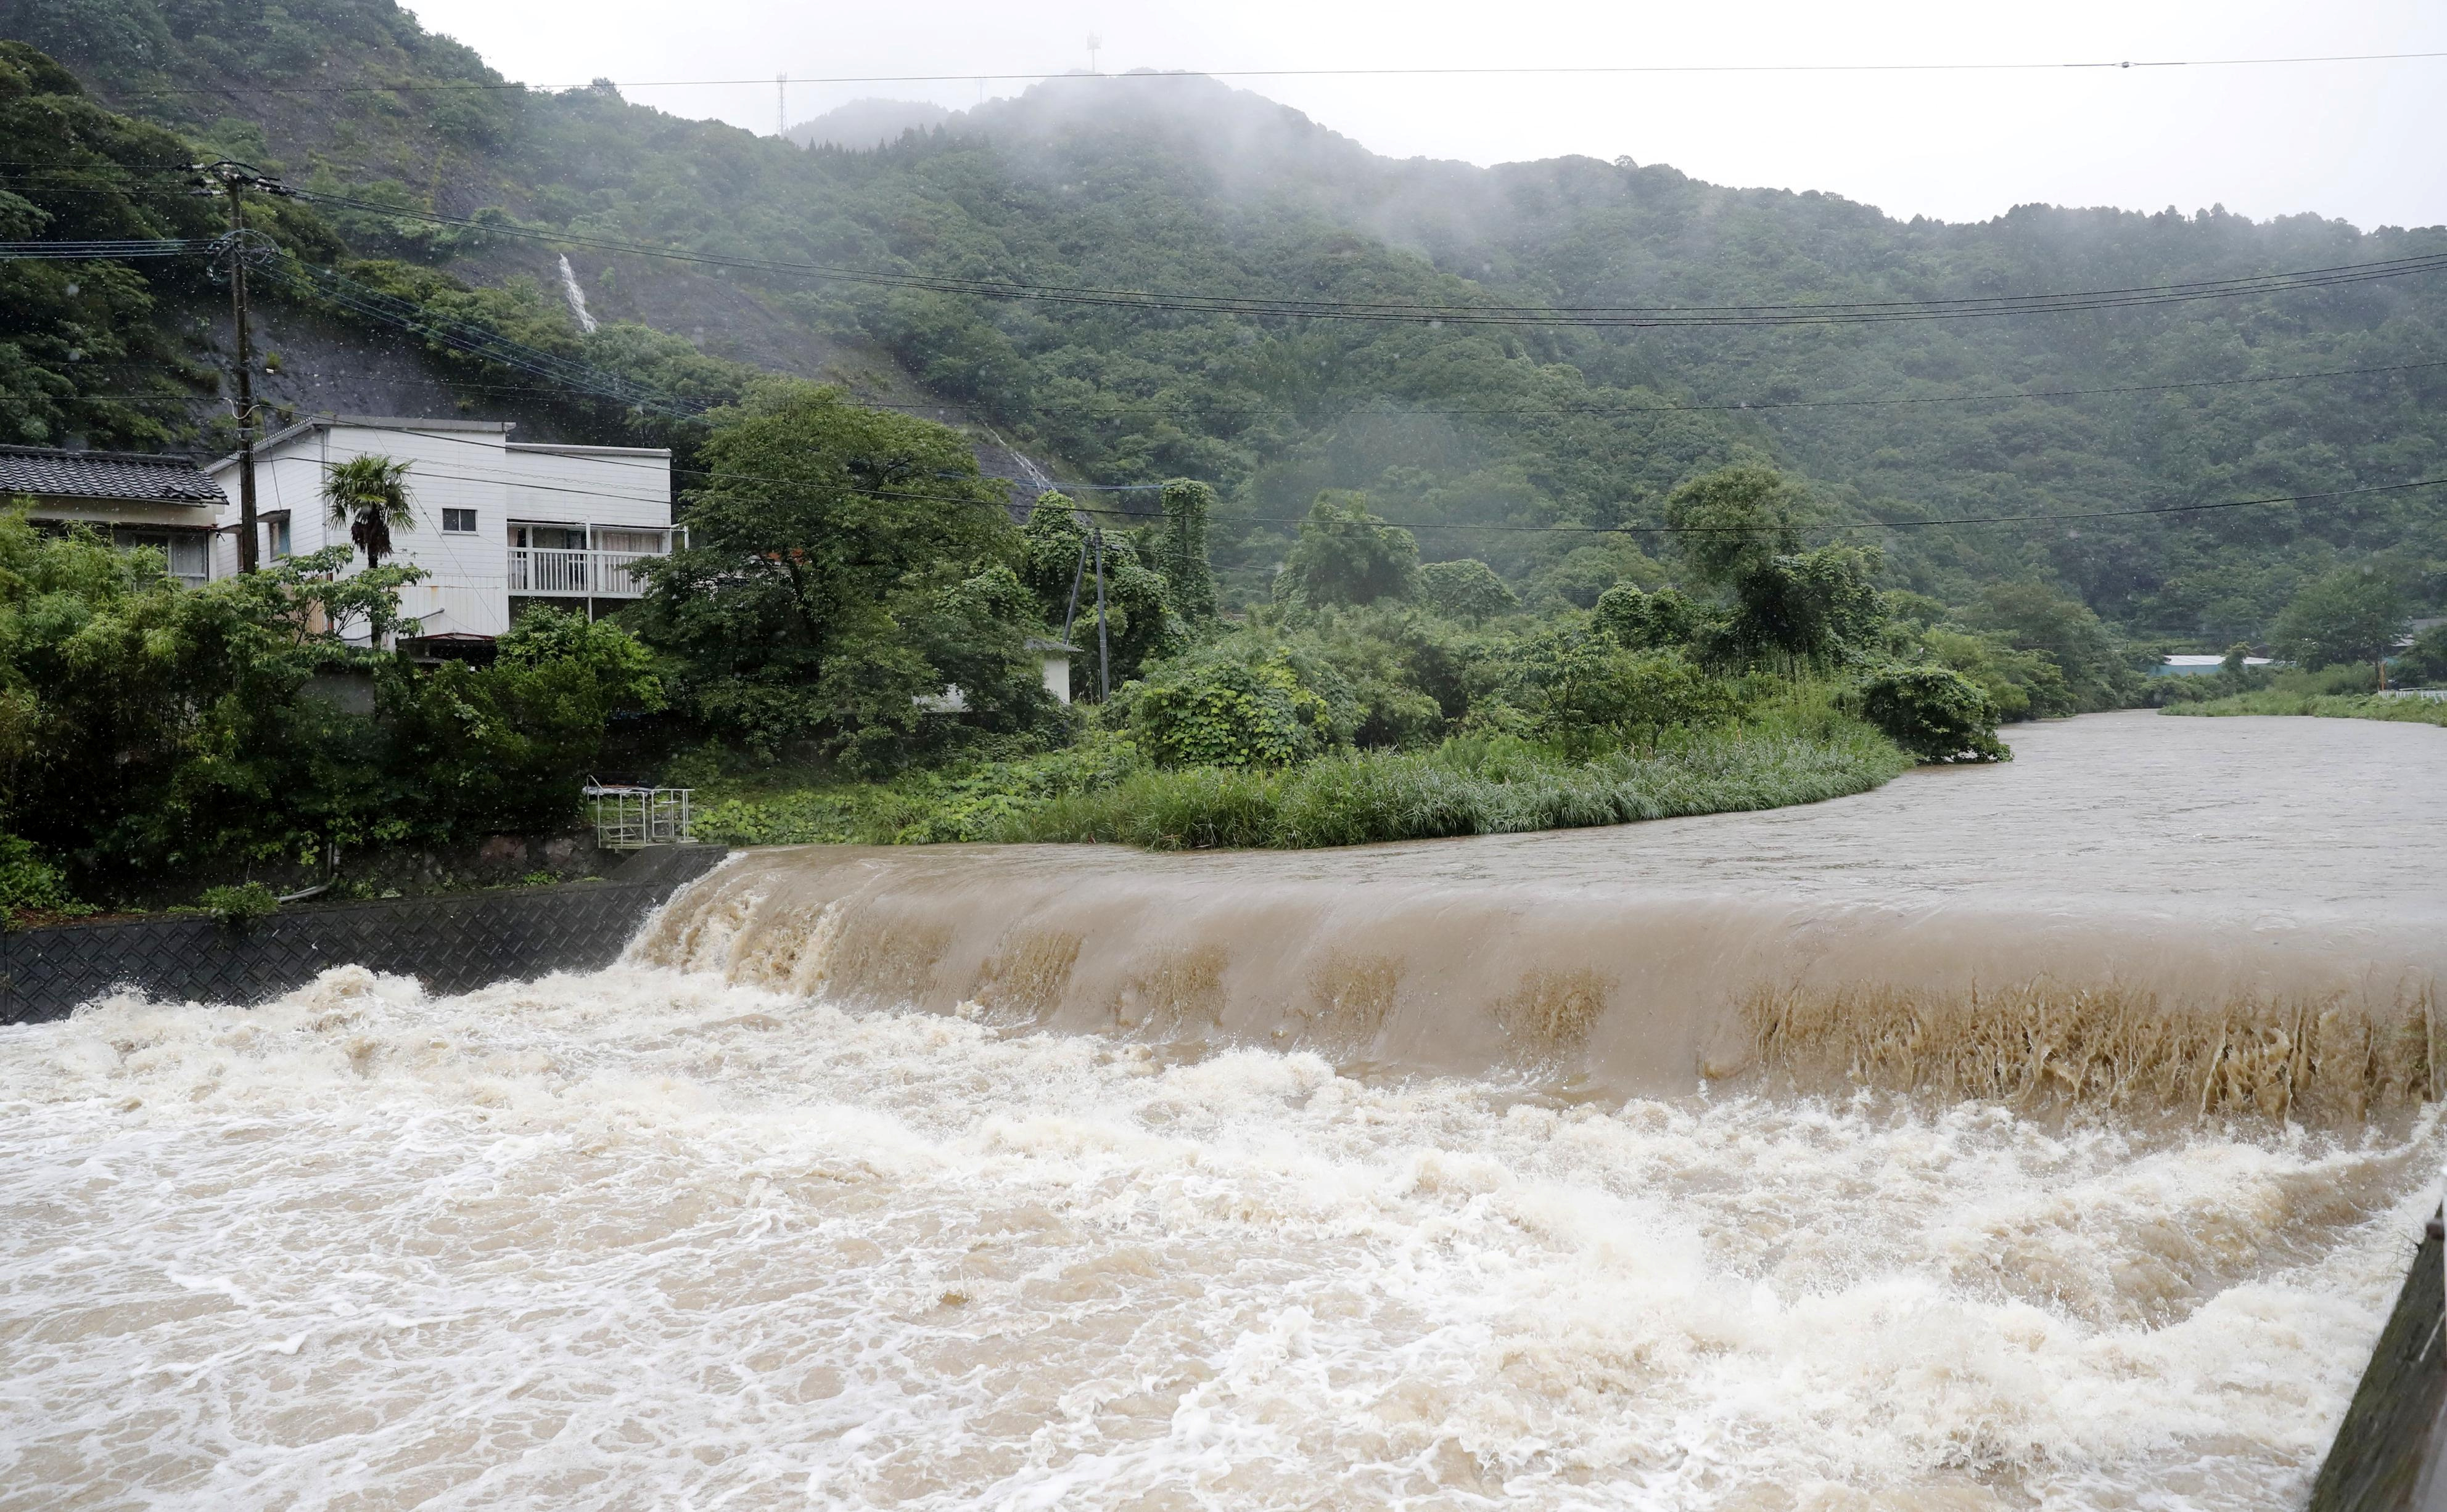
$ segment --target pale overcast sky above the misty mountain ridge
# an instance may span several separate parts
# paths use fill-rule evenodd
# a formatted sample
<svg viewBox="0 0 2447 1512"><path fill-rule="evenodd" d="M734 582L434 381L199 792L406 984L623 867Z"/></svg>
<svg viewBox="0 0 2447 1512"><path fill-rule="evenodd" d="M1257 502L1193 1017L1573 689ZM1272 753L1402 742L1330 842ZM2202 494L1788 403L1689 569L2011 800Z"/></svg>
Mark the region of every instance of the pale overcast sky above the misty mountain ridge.
<svg viewBox="0 0 2447 1512"><path fill-rule="evenodd" d="M406 0L529 83L773 130L773 73L1387 69L1586 64L2055 64L2447 51L2447 0ZM644 88L641 81L749 78ZM1627 76L1233 78L1392 157L1632 157L1715 183L1823 188L1894 215L2016 203L2364 228L2447 223L2447 56L2420 61ZM974 105L1025 83L790 88L790 120L854 95Z"/></svg>

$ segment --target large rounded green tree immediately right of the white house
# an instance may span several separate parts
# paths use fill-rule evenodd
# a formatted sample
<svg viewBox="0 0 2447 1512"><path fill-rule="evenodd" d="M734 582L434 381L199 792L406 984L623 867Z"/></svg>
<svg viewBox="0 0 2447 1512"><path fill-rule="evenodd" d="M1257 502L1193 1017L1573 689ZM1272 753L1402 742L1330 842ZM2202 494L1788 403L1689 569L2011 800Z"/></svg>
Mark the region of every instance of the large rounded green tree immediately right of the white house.
<svg viewBox="0 0 2447 1512"><path fill-rule="evenodd" d="M959 431L771 384L717 416L705 470L688 548L648 568L631 609L705 729L763 756L805 741L891 768L932 739L918 700L954 685L954 651L969 724L1045 717L1018 626L962 621L979 599L954 590L1013 565L1020 541Z"/></svg>

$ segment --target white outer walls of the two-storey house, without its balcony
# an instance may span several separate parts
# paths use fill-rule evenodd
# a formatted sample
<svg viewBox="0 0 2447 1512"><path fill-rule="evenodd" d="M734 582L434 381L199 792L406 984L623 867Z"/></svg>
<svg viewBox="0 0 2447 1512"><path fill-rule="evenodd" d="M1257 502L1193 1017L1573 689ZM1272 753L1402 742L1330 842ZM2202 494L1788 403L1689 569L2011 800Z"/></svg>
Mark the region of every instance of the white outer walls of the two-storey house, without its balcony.
<svg viewBox="0 0 2447 1512"><path fill-rule="evenodd" d="M499 426L465 421L343 418L257 453L257 509L289 511L291 553L347 543L347 526L325 521L323 477L362 455L409 465L416 524L392 533L389 560L426 568L428 577L401 595L401 609L418 617L426 634L497 636L509 629L509 521L670 526L670 453L663 450L519 445ZM225 460L213 477L232 499L223 524L235 526L237 465ZM443 531L445 509L475 511L475 531ZM223 536L218 553L235 570L235 533Z"/></svg>

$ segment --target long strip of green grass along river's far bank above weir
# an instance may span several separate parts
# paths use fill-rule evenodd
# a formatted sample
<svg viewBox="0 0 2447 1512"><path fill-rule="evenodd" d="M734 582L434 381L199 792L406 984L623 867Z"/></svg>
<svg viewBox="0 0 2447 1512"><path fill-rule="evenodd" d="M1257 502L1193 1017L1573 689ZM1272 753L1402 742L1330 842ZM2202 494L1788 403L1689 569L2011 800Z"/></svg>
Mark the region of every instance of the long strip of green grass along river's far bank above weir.
<svg viewBox="0 0 2447 1512"><path fill-rule="evenodd" d="M1456 736L1429 751L1351 751L1290 768L1162 768L1128 739L1104 736L898 783L717 798L697 834L722 844L1312 849L1821 802L1909 768L1911 756L1867 724L1799 700L1740 727L1593 758L1510 736Z"/></svg>

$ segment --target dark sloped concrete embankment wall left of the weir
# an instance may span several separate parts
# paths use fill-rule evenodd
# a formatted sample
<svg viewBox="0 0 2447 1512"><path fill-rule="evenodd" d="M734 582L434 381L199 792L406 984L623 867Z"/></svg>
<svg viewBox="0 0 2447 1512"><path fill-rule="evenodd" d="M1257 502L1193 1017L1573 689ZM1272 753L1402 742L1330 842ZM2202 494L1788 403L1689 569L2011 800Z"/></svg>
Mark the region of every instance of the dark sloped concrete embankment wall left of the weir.
<svg viewBox="0 0 2447 1512"><path fill-rule="evenodd" d="M69 1018L78 1003L122 988L174 1003L252 1006L333 966L416 976L438 993L600 971L646 915L724 854L710 844L653 847L600 883L291 905L247 930L193 913L20 930L0 935L0 1023Z"/></svg>

